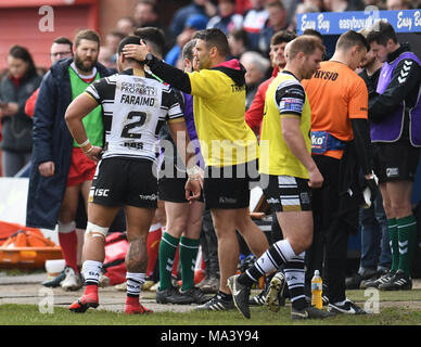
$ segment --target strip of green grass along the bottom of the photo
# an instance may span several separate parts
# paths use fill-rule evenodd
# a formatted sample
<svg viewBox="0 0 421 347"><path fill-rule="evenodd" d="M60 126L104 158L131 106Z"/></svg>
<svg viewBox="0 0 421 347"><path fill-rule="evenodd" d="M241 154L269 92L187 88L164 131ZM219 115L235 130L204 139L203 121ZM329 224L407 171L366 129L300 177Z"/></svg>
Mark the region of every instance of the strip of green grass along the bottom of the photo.
<svg viewBox="0 0 421 347"><path fill-rule="evenodd" d="M0 325L420 325L421 290L407 292L347 291L348 298L378 313L366 316L337 314L331 319L292 321L290 305L279 312L266 307L252 307L252 318L244 319L238 310L221 312L192 311L187 313L155 312L128 316L105 310L89 309L73 313L66 308L54 307L41 313L36 305L0 305ZM378 297L373 295L379 295ZM371 300L371 301L370 301ZM375 301L377 300L377 301ZM379 306L377 307L377 303ZM326 308L324 308L326 309Z"/></svg>

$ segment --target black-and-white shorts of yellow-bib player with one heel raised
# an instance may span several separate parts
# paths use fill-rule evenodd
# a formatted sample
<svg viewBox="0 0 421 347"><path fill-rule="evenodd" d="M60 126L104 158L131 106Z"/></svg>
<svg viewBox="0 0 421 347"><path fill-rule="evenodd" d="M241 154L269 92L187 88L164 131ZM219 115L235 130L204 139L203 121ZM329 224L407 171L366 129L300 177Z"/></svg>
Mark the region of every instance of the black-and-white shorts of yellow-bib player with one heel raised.
<svg viewBox="0 0 421 347"><path fill-rule="evenodd" d="M312 210L312 192L308 187L308 180L292 176L261 175L261 177L268 180L264 193L272 211Z"/></svg>

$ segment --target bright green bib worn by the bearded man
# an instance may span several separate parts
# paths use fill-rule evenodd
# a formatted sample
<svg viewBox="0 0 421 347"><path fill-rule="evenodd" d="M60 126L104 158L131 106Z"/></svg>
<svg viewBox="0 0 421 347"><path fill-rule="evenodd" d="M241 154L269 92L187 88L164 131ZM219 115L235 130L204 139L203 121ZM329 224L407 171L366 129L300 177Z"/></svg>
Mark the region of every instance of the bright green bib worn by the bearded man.
<svg viewBox="0 0 421 347"><path fill-rule="evenodd" d="M68 75L71 76L71 86L72 86L72 100L75 100L78 95L80 95L85 89L89 86L89 83L85 82L76 72L68 66ZM100 74L97 73L95 80L100 79ZM101 106L98 105L91 113L89 113L82 119L86 133L88 136L89 141L92 145L97 145L102 147L103 145L103 136L104 136L104 126L102 123L102 110ZM73 141L74 147L79 147L76 141Z"/></svg>

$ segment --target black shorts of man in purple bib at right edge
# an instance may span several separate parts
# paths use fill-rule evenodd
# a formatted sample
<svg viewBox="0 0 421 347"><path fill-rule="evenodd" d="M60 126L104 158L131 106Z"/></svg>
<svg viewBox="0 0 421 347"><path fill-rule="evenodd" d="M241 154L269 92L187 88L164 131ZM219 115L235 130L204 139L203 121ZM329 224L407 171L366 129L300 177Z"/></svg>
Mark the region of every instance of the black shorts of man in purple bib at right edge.
<svg viewBox="0 0 421 347"><path fill-rule="evenodd" d="M373 143L373 167L379 182L413 181L420 149L409 142Z"/></svg>

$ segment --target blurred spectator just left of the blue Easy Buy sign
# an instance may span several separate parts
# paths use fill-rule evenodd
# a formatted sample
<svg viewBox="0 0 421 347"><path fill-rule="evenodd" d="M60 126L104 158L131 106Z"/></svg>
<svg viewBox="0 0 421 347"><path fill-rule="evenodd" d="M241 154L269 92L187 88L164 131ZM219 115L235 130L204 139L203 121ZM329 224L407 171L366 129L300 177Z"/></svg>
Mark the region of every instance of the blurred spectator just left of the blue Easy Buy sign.
<svg viewBox="0 0 421 347"><path fill-rule="evenodd" d="M265 27L261 29L259 39L258 39L258 50L265 56L269 55L270 50L270 39L273 34L279 30L286 29L288 23L288 13L283 7L282 0L273 0L266 4L266 11L268 12L268 21L265 24Z"/></svg>

